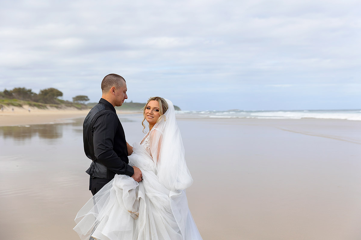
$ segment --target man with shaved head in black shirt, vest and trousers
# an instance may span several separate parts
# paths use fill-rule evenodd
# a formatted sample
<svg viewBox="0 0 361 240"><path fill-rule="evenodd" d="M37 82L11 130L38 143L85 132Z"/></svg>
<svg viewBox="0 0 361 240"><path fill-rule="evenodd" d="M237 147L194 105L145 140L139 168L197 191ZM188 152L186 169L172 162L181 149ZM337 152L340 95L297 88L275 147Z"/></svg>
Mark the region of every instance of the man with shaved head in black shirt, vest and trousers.
<svg viewBox="0 0 361 240"><path fill-rule="evenodd" d="M117 74L108 74L101 82L101 91L99 103L90 110L83 124L84 151L92 160L86 173L90 175L89 190L93 195L116 174L142 181L140 169L128 165L132 148L125 140L114 108L128 98L126 82Z"/></svg>

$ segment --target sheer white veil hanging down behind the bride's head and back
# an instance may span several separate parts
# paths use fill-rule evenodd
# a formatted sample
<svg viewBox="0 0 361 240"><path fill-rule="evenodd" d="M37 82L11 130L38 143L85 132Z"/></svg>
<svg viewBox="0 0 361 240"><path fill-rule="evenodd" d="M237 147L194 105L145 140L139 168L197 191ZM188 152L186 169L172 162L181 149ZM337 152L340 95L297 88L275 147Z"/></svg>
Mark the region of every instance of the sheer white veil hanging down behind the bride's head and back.
<svg viewBox="0 0 361 240"><path fill-rule="evenodd" d="M193 179L184 159L184 147L173 103L160 117L149 133L150 149L157 167L160 182L169 190L183 190L191 186Z"/></svg>

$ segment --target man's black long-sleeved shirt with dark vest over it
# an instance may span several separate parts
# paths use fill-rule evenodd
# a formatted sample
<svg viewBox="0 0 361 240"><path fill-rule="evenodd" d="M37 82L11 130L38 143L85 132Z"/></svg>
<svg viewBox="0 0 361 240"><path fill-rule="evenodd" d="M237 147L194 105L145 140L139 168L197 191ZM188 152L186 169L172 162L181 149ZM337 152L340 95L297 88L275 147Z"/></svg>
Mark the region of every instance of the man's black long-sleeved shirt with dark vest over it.
<svg viewBox="0 0 361 240"><path fill-rule="evenodd" d="M84 151L92 161L90 176L113 179L115 174L132 176L128 165L127 142L122 124L112 104L101 98L83 124Z"/></svg>

